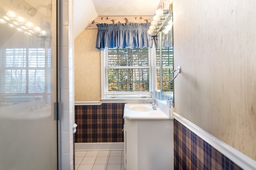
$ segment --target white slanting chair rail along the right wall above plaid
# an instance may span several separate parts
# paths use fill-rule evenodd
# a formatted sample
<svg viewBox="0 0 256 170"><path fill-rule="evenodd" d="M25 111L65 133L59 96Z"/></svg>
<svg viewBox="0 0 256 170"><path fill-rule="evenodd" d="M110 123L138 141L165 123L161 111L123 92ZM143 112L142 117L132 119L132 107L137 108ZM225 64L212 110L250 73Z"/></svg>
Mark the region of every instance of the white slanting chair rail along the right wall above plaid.
<svg viewBox="0 0 256 170"><path fill-rule="evenodd" d="M174 119L182 123L185 127L189 128L192 132L202 138L204 141L208 142L230 160L235 162L238 166L243 168L244 170L255 170L256 161L252 158L246 156L242 152L236 150L232 146L226 144L222 140L216 138L212 134L206 132L204 129L198 127L192 122L188 121L184 117L180 116L177 113L173 113Z"/></svg>

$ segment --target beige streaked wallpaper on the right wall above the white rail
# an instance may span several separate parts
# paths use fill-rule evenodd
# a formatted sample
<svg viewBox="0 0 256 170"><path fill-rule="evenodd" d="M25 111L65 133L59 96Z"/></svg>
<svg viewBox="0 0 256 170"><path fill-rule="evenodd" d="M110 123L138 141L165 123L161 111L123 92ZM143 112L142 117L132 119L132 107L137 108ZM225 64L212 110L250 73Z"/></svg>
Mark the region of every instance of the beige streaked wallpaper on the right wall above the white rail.
<svg viewBox="0 0 256 170"><path fill-rule="evenodd" d="M178 114L256 160L256 1L173 0Z"/></svg>

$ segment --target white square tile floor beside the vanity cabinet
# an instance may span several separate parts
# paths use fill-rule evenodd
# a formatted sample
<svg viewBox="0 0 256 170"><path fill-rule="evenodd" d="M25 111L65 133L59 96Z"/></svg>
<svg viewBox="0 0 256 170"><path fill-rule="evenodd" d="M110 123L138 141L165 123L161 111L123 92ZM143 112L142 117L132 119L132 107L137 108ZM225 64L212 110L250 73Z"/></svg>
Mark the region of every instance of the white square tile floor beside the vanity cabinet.
<svg viewBox="0 0 256 170"><path fill-rule="evenodd" d="M124 170L124 150L76 150L75 170Z"/></svg>

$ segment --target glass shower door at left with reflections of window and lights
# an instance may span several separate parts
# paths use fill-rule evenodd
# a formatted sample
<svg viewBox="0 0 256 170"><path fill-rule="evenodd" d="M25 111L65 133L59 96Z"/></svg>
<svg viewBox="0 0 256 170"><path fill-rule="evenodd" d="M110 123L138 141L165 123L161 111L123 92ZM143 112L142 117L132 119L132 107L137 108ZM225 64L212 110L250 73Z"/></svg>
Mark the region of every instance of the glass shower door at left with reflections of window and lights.
<svg viewBox="0 0 256 170"><path fill-rule="evenodd" d="M56 170L56 0L0 0L0 170Z"/></svg>

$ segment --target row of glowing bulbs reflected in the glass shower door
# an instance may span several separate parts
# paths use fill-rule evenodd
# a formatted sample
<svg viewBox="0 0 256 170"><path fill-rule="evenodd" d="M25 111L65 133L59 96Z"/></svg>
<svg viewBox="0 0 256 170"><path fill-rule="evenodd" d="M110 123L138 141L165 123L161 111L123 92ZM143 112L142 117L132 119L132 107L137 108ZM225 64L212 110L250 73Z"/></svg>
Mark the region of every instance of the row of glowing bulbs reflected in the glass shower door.
<svg viewBox="0 0 256 170"><path fill-rule="evenodd" d="M40 27L34 26L30 21L26 22L25 18L22 16L16 16L16 13L13 11L6 12L6 15L0 18L0 24L6 23L8 23L10 28L16 27L18 32L24 32L26 35L34 34L39 37L47 36L47 32L45 30L41 30Z"/></svg>

